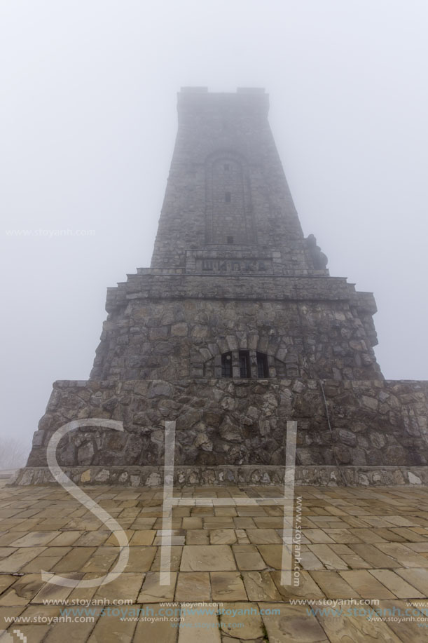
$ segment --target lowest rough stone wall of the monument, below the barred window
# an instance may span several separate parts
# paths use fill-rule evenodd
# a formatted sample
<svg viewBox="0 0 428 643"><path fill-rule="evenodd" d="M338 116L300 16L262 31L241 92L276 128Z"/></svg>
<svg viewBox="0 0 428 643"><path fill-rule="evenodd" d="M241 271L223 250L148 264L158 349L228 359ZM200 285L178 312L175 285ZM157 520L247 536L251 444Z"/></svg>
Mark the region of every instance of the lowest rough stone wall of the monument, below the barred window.
<svg viewBox="0 0 428 643"><path fill-rule="evenodd" d="M427 466L428 382L330 380L324 393L331 431L315 380L57 381L27 466L46 466L53 432L87 417L125 431L69 433L57 449L64 467L161 466L165 420L177 422L177 466L283 466L287 420L298 422L304 468Z"/></svg>

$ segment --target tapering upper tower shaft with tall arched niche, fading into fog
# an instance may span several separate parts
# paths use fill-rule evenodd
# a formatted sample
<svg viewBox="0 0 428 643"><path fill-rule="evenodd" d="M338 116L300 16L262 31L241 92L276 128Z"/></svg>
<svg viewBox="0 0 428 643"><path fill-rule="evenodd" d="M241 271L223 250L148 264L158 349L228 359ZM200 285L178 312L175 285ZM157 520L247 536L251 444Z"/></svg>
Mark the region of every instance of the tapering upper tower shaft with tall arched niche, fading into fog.
<svg viewBox="0 0 428 643"><path fill-rule="evenodd" d="M314 269L270 131L264 90L183 88L177 109L151 267L203 272L223 259L226 272Z"/></svg>

